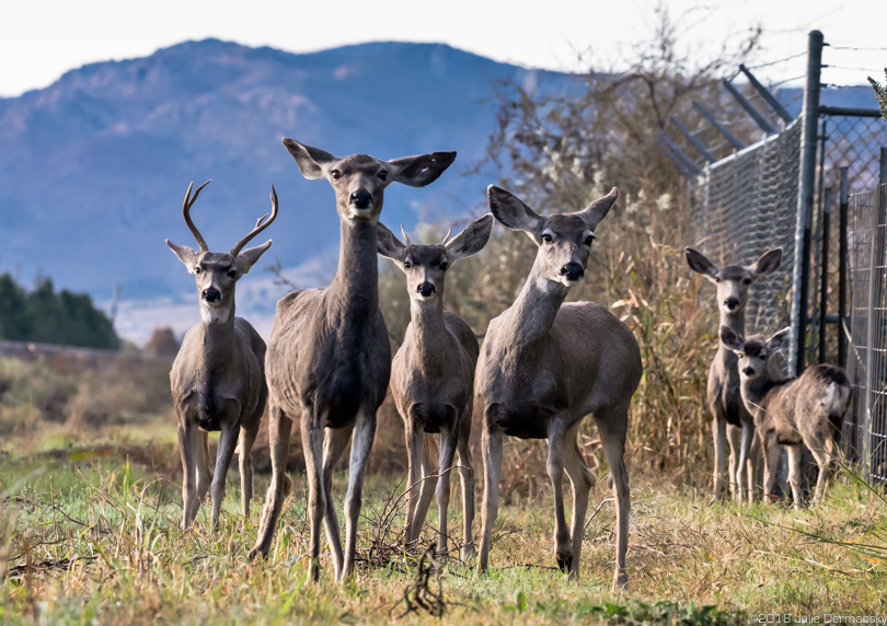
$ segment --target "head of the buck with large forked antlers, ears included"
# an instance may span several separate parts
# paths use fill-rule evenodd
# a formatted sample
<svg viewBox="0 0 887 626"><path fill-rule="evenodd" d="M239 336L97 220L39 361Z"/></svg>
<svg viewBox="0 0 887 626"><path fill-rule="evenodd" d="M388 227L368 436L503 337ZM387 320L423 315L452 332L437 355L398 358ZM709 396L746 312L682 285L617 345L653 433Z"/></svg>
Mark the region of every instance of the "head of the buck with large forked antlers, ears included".
<svg viewBox="0 0 887 626"><path fill-rule="evenodd" d="M228 315L215 314L211 312L230 311L234 302L234 285L240 277L249 274L250 268L258 260L262 254L270 247L270 240L262 245L243 250L253 237L255 237L263 230L268 228L270 223L277 218L277 192L272 185L270 200L272 212L270 217L267 213L258 218L255 227L250 233L241 239L230 252L218 253L209 252L200 231L194 225L191 219L191 207L200 194L200 190L206 187L210 181L207 181L191 195L194 183L188 185L185 200L182 204L182 213L185 217L185 223L191 229L194 239L197 241L199 250L194 250L184 245L175 245L166 240L166 245L170 246L175 255L178 257L188 273L195 276L197 283L197 292L200 294L200 309L208 311L209 321L223 321Z"/></svg>

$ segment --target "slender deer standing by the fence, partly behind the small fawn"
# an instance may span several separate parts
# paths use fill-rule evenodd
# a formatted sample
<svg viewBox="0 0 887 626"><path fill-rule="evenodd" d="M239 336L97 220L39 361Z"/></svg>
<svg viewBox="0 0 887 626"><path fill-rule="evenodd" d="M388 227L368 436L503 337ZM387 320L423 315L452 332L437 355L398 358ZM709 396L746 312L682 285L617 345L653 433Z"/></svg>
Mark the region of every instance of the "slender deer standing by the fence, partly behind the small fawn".
<svg viewBox="0 0 887 626"><path fill-rule="evenodd" d="M782 248L767 251L751 265L717 266L692 247L684 248L690 269L701 274L717 288L717 310L721 325L736 333L745 333L748 290L759 278L774 273L782 262ZM754 487L754 459L760 442L754 436L754 420L746 409L739 391L739 370L736 355L718 343L717 353L709 368L707 401L712 411L712 436L715 442L714 499L724 497L729 484L737 501L751 502ZM774 361L773 366L779 368ZM773 372L774 376L780 376ZM726 449L730 455L727 463ZM760 476L760 474L759 474Z"/></svg>

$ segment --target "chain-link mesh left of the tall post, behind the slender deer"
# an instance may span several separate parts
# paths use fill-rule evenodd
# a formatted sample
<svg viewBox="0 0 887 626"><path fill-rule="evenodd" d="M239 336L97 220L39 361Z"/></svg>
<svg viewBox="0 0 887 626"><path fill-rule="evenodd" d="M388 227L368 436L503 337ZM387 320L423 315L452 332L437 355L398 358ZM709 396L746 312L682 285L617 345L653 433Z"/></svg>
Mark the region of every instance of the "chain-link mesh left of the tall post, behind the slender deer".
<svg viewBox="0 0 887 626"><path fill-rule="evenodd" d="M698 245L719 265L749 265L782 247L780 271L752 283L746 331L788 325L795 257L802 125L707 165L694 188Z"/></svg>

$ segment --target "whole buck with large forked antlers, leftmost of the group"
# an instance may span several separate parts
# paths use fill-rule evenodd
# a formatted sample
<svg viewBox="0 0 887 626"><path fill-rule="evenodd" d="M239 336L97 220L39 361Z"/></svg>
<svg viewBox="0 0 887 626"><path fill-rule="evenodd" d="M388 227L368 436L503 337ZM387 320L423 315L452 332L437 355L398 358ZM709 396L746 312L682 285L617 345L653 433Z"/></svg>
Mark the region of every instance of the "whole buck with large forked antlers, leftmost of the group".
<svg viewBox="0 0 887 626"><path fill-rule="evenodd" d="M182 530L188 530L207 489L212 497L212 529L218 530L224 499L224 482L237 447L240 456L243 517L250 515L253 498L252 448L265 402L265 341L243 317L234 316L234 288L238 281L270 247L270 240L243 250L277 218L277 192L272 185L270 217L264 215L230 252L210 252L191 219L191 208L209 181L188 185L182 213L199 250L166 240L197 283L200 323L193 326L170 372L173 404L178 418L178 450L182 456ZM215 476L209 457L208 433L221 431ZM211 487L209 485L211 480Z"/></svg>

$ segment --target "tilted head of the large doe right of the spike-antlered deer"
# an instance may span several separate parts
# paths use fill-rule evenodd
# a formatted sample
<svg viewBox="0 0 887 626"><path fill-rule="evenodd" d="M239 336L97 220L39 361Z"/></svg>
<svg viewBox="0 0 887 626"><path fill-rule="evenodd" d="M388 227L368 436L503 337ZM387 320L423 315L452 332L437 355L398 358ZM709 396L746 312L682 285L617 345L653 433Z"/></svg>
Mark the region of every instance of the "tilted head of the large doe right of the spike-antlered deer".
<svg viewBox="0 0 887 626"><path fill-rule="evenodd" d="M604 197L581 211L540 216L514 194L491 185L487 188L489 210L504 227L526 232L539 246L537 265L543 276L566 287L576 285L588 266L595 229L615 202L613 187Z"/></svg>

